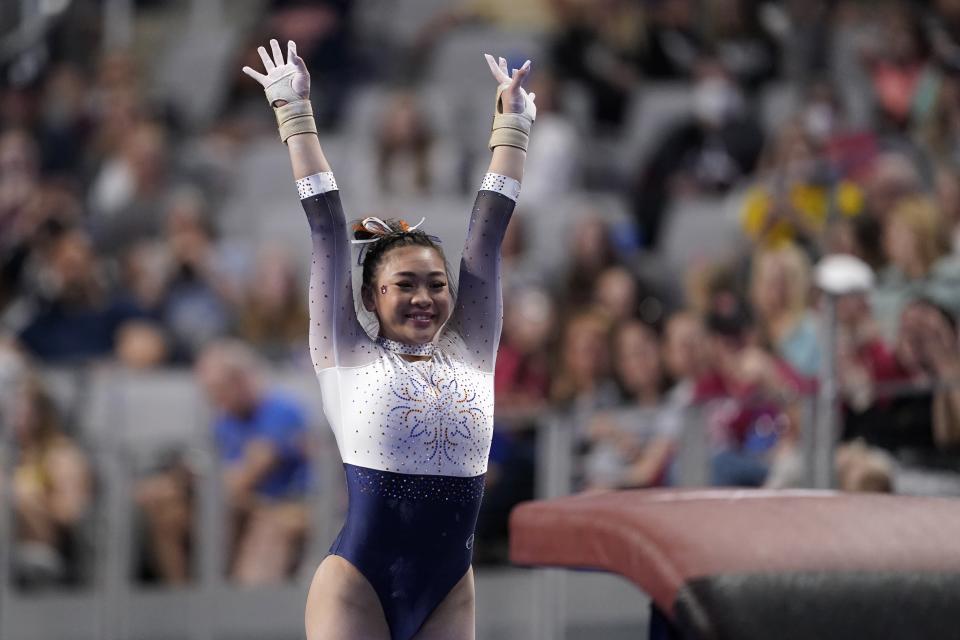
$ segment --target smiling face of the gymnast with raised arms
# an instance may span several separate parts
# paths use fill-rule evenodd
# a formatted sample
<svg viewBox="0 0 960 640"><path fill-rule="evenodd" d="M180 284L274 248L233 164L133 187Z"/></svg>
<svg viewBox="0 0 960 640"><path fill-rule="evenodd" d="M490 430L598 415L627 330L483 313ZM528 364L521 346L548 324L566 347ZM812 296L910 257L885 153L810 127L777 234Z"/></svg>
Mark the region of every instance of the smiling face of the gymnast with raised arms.
<svg viewBox="0 0 960 640"><path fill-rule="evenodd" d="M421 245L390 249L362 295L380 321L380 335L405 344L432 341L453 308L443 257Z"/></svg>

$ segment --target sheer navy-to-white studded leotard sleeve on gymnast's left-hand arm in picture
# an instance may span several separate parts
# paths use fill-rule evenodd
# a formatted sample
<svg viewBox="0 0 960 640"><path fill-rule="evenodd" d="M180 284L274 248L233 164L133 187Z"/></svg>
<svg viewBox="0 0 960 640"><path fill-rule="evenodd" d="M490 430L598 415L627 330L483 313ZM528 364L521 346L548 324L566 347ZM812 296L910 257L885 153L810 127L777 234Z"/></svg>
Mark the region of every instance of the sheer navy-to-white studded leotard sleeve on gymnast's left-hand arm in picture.
<svg viewBox="0 0 960 640"><path fill-rule="evenodd" d="M297 180L300 203L310 223L310 357L318 372L358 366L375 357L354 307L350 243L340 192L330 172Z"/></svg>

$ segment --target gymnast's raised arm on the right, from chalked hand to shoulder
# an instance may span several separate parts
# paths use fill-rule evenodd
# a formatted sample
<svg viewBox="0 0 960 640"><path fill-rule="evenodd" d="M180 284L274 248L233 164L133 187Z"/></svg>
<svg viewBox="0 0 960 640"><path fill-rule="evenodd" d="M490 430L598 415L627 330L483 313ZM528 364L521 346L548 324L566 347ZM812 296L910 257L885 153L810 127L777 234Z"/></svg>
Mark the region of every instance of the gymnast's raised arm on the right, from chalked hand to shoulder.
<svg viewBox="0 0 960 640"><path fill-rule="evenodd" d="M537 110L534 94L521 87L530 72L530 61L510 76L503 58L497 64L491 56L486 57L499 84L490 138L493 156L470 215L450 326L463 340L473 364L492 372L503 324L500 244L520 195L527 139Z"/></svg>

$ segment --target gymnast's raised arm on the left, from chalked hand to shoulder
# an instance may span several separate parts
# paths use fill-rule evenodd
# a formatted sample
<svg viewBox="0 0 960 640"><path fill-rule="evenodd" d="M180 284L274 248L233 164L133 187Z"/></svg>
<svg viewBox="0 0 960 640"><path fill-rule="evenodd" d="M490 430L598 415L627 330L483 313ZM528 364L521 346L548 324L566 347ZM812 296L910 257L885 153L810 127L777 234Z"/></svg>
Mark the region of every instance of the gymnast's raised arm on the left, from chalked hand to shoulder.
<svg viewBox="0 0 960 640"><path fill-rule="evenodd" d="M264 86L273 107L280 139L290 151L300 203L310 224L313 258L310 265L310 357L319 371L356 366L372 359L371 341L357 320L350 271L350 243L340 192L323 155L310 106L310 74L287 43L287 60L276 40L270 53L259 48L266 75L244 67Z"/></svg>

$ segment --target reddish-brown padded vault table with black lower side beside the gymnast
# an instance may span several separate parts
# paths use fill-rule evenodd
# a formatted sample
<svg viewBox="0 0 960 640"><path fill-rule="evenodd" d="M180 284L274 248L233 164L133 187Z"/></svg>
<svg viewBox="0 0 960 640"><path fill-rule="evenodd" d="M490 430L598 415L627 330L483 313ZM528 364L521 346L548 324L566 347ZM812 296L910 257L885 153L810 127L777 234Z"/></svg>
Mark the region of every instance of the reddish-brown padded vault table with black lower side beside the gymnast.
<svg viewBox="0 0 960 640"><path fill-rule="evenodd" d="M960 500L636 490L518 505L515 564L619 574L685 640L960 640Z"/></svg>

